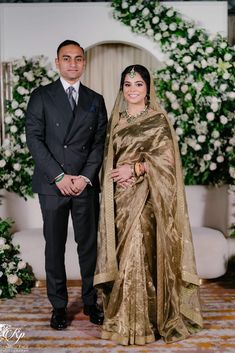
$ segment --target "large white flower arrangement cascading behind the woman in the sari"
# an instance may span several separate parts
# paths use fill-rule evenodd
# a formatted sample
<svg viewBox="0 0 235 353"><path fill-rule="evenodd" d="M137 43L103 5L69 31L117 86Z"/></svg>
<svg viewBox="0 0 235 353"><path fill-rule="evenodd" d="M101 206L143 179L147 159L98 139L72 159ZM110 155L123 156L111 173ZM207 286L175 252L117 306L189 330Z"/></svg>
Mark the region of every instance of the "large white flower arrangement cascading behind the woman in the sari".
<svg viewBox="0 0 235 353"><path fill-rule="evenodd" d="M234 48L156 1L113 0L112 7L114 18L167 55L153 74L178 137L185 183L234 185Z"/></svg>

